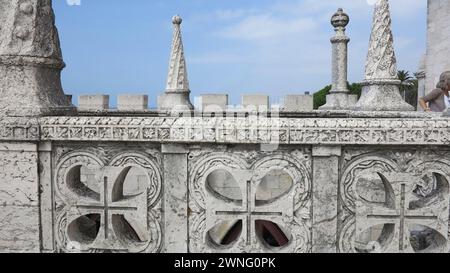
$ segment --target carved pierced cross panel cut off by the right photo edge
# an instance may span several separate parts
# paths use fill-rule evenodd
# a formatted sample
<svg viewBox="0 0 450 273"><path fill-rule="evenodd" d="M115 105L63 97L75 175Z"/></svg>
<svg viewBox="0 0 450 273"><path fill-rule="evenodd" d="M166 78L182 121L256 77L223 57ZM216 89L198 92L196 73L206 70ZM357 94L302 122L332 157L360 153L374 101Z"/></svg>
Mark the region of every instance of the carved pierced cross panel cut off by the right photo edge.
<svg viewBox="0 0 450 273"><path fill-rule="evenodd" d="M340 184L341 252L446 252L450 161L440 153L356 156Z"/></svg>

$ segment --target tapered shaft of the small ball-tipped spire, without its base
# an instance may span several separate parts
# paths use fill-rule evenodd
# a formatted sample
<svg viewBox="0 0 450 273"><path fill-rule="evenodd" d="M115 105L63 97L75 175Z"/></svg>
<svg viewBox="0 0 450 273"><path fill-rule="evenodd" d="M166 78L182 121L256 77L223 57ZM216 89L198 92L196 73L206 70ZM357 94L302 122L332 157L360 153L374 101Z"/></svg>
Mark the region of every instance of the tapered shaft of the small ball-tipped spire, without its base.
<svg viewBox="0 0 450 273"><path fill-rule="evenodd" d="M173 41L166 92L189 91L189 80L187 75L186 60L184 58L183 40L181 38L182 22L183 19L178 15L172 18Z"/></svg>

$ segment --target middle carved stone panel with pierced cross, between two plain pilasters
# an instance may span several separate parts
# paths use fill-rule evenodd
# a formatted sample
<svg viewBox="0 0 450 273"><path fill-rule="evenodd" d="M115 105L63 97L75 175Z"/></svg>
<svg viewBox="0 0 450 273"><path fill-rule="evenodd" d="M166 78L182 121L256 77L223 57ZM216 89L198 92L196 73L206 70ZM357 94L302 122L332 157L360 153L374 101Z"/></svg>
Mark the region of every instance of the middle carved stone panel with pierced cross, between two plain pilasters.
<svg viewBox="0 0 450 273"><path fill-rule="evenodd" d="M189 250L191 252L309 252L311 248L311 157L289 153L193 152L189 156ZM292 181L276 196L259 188L276 172ZM216 175L219 174L219 175ZM226 180L223 180L227 177ZM276 181L271 181L275 185ZM212 183L225 191L212 188ZM234 188L233 188L234 187ZM230 195L234 190L233 197ZM233 241L214 240L229 223L240 223ZM259 223L277 226L284 245L271 244L258 233ZM231 224L232 226L233 224ZM275 229L277 229L275 228ZM226 233L226 232L225 232ZM236 235L236 234L235 234ZM227 237L227 236L225 236ZM224 236L221 237L222 239Z"/></svg>

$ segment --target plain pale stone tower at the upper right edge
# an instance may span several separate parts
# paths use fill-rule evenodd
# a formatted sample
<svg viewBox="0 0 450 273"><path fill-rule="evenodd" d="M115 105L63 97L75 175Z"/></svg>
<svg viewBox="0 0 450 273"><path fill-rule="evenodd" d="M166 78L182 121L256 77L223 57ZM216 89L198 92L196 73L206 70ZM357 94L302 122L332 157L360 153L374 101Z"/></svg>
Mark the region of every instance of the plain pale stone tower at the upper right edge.
<svg viewBox="0 0 450 273"><path fill-rule="evenodd" d="M436 88L442 72L450 70L450 1L428 0L428 41L425 94Z"/></svg>

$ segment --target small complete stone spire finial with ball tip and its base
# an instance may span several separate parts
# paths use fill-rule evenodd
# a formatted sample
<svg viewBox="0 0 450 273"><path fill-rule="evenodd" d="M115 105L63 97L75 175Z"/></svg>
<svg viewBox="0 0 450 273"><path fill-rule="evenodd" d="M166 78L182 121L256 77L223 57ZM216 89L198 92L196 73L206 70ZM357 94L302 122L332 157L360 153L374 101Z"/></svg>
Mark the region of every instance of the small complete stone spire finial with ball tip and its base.
<svg viewBox="0 0 450 273"><path fill-rule="evenodd" d="M160 98L160 110L174 110L174 108L193 109L190 102L189 80L184 57L183 40L181 37L181 23L183 19L176 15L172 18L174 27L172 51L169 62L169 73L165 94Z"/></svg>

